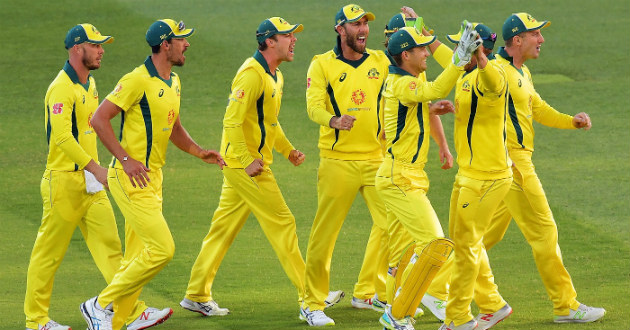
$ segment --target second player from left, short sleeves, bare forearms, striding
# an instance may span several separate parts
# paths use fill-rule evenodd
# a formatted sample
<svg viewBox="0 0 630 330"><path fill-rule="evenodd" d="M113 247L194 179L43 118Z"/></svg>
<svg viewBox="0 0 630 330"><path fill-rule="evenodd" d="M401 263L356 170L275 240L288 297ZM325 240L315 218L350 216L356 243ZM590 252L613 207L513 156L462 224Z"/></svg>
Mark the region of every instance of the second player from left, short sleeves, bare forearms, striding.
<svg viewBox="0 0 630 330"><path fill-rule="evenodd" d="M173 258L175 245L162 214L162 166L170 140L206 163L225 164L217 151L202 149L180 121L181 84L171 71L186 61L184 22L161 19L149 27L152 49L144 64L123 76L98 107L91 123L113 154L107 173L110 191L125 216L122 266L98 296L80 306L89 330L120 329L133 302ZM122 112L120 141L111 120Z"/></svg>

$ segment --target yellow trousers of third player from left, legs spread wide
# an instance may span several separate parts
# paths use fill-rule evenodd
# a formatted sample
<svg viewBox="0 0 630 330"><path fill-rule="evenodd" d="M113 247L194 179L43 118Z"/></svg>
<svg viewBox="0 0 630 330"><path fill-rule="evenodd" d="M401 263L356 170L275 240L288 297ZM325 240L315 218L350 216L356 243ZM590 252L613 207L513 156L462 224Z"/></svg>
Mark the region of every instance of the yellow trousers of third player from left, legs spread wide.
<svg viewBox="0 0 630 330"><path fill-rule="evenodd" d="M193 265L186 298L212 300L212 283L223 257L253 213L289 280L304 298L304 259L298 247L295 217L289 210L276 179L269 168L256 177L244 169L223 168L223 187L210 231Z"/></svg>

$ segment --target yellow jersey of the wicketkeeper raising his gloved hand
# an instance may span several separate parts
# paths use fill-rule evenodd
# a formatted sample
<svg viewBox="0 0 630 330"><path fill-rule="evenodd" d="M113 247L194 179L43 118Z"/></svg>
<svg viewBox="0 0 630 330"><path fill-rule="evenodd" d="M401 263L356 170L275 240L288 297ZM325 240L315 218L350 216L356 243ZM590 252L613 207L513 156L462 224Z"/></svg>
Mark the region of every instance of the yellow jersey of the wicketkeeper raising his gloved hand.
<svg viewBox="0 0 630 330"><path fill-rule="evenodd" d="M424 165L429 152L429 101L446 97L462 69L450 64L433 82L389 67L385 82L385 136L387 154L394 160Z"/></svg>

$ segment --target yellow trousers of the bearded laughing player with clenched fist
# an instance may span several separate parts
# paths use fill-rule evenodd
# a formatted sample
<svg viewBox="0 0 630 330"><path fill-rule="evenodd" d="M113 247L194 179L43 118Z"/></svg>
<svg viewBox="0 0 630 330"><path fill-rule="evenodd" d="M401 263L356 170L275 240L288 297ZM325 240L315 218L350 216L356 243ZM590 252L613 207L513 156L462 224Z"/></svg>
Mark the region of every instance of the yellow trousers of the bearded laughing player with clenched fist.
<svg viewBox="0 0 630 330"><path fill-rule="evenodd" d="M313 220L306 250L306 296L310 310L323 310L330 285L330 263L341 226L361 193L372 221L382 230L387 228L385 205L374 188L374 176L381 159L339 160L320 158L317 174L317 213ZM366 227L368 227L366 225ZM376 242L376 241L375 241ZM376 244L376 243L374 243ZM376 245L373 245L374 248ZM374 253L376 254L376 253ZM362 272L379 272L379 263L364 262Z"/></svg>

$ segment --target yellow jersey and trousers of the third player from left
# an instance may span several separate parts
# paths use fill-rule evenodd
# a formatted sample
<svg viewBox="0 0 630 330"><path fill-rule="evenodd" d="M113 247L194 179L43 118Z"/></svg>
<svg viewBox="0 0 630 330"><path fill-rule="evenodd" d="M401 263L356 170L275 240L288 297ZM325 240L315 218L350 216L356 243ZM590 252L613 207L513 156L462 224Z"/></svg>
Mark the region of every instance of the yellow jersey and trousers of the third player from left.
<svg viewBox="0 0 630 330"><path fill-rule="evenodd" d="M212 300L216 272L250 213L258 219L297 288L298 300L304 298L304 259L298 247L295 218L269 168L273 149L287 158L295 149L278 121L283 88L282 72L270 72L259 51L243 63L232 80L221 139L221 156L227 163L221 198L192 268L187 299ZM263 160L264 171L250 177L245 168L254 159Z"/></svg>

